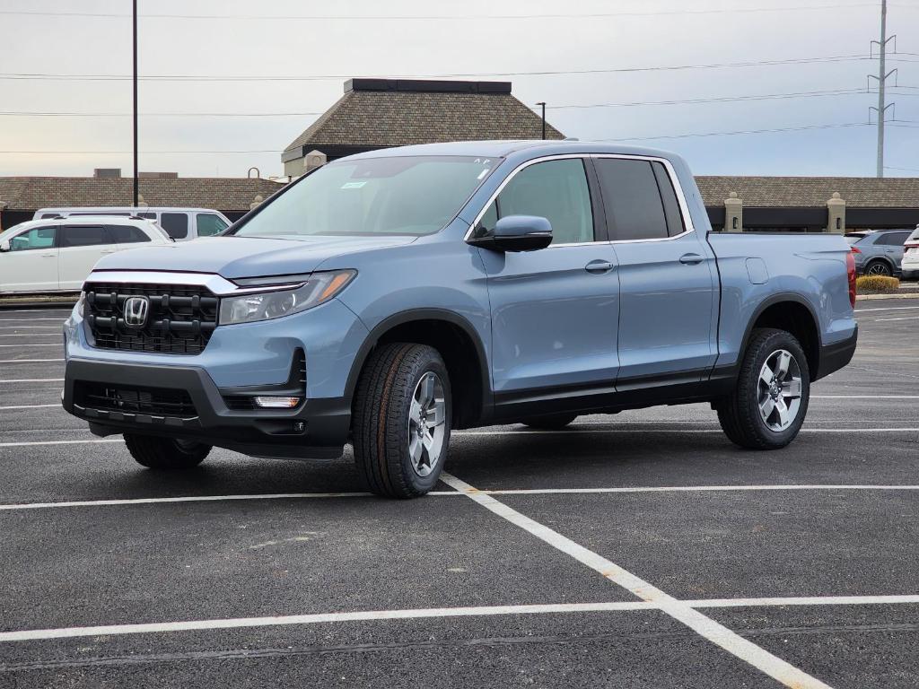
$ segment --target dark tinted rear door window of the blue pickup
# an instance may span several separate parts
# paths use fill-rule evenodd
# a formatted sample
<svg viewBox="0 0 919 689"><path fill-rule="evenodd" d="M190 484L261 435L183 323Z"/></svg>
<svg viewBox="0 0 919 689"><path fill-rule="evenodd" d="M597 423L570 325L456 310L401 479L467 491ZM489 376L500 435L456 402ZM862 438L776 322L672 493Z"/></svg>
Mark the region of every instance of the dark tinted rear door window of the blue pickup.
<svg viewBox="0 0 919 689"><path fill-rule="evenodd" d="M597 158L596 172L611 240L663 239L683 232L664 165L655 168L646 160Z"/></svg>

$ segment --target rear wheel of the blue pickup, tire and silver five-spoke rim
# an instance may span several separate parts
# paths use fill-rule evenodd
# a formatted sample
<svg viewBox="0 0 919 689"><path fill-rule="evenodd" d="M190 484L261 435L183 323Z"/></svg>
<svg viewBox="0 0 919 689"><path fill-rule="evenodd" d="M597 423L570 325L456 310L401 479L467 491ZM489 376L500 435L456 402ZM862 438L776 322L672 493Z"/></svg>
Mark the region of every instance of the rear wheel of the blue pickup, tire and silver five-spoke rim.
<svg viewBox="0 0 919 689"><path fill-rule="evenodd" d="M778 357L783 352L791 357L787 374L774 377L773 386L766 379L780 369ZM794 397L796 392L800 392L797 398ZM716 406L718 420L724 434L735 445L754 450L778 449L787 446L798 435L810 395L811 373L797 338L784 330L756 329L743 353L734 391Z"/></svg>

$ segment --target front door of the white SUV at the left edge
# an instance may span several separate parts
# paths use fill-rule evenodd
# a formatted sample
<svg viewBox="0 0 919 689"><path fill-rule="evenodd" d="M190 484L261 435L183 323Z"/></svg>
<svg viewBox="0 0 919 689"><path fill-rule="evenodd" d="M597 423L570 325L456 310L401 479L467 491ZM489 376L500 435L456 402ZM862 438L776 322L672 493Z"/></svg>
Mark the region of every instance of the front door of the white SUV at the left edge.
<svg viewBox="0 0 919 689"><path fill-rule="evenodd" d="M14 235L0 254L0 292L45 292L58 289L56 225L42 225Z"/></svg>

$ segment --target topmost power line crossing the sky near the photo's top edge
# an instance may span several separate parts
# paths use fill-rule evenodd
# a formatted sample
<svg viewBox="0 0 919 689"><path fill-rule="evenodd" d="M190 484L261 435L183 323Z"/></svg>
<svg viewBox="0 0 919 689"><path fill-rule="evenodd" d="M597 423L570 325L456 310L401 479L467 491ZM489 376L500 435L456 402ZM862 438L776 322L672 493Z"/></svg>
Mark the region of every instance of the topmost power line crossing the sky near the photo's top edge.
<svg viewBox="0 0 919 689"><path fill-rule="evenodd" d="M851 5L800 5L800 6L768 6L768 7L738 7L733 9L695 9L695 10L664 10L663 12L596 12L590 14L535 14L535 15L181 15L181 14L149 14L141 15L141 19L253 19L267 20L309 20L309 21L439 21L457 19L599 19L605 17L673 17L686 15L719 15L719 14L755 14L761 12L791 12L811 11L822 9L854 9L858 7L873 7L876 3L855 3ZM42 12L35 10L2 10L0 15L18 15L24 17L108 17L127 18L128 14L108 12Z"/></svg>

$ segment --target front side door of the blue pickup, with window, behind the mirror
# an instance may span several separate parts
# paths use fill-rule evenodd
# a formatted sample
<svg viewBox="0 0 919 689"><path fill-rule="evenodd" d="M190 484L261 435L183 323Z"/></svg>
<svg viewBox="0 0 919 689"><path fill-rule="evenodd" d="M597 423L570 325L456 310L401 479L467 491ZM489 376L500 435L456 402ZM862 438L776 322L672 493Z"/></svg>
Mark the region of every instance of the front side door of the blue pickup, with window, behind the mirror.
<svg viewBox="0 0 919 689"><path fill-rule="evenodd" d="M618 280L589 169L580 157L518 168L473 231L487 235L509 215L547 218L552 226L552 243L545 249L480 250L488 274L499 412L550 395L573 398L604 385L613 390Z"/></svg>

